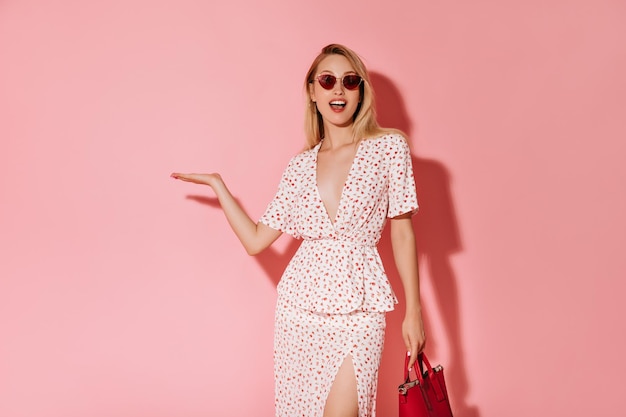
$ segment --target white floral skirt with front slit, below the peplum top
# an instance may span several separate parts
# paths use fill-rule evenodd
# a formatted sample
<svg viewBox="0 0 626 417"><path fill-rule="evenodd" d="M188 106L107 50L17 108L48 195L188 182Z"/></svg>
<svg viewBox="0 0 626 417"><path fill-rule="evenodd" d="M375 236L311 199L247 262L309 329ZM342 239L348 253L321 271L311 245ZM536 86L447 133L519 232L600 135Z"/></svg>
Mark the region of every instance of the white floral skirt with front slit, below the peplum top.
<svg viewBox="0 0 626 417"><path fill-rule="evenodd" d="M359 417L375 417L385 313L315 313L279 296L274 327L277 417L322 417L339 367L351 356Z"/></svg>

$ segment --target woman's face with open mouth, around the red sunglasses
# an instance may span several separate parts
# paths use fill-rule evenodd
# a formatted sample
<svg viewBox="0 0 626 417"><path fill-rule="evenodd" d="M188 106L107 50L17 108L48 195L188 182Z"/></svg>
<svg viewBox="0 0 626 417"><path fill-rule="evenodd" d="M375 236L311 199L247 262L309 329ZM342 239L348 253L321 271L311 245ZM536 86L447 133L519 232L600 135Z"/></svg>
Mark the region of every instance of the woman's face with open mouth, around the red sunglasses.
<svg viewBox="0 0 626 417"><path fill-rule="evenodd" d="M318 81L320 75L334 75L337 80L330 89L322 87ZM324 119L324 124L346 127L352 124L354 112L359 106L361 94L359 88L349 90L344 86L343 77L356 75L350 61L343 55L329 55L317 66L314 80L309 84L309 93L318 111Z"/></svg>

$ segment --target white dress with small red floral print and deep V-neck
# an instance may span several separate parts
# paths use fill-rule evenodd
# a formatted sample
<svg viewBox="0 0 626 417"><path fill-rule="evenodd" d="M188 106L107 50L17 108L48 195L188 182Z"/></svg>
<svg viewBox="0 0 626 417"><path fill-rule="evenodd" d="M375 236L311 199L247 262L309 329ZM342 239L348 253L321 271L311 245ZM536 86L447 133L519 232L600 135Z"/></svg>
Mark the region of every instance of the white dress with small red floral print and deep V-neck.
<svg viewBox="0 0 626 417"><path fill-rule="evenodd" d="M359 417L373 417L385 312L397 303L376 245L387 218L417 211L411 154L399 134L362 140L333 222L317 189L320 146L291 159L260 219L303 239L278 284L276 416L321 417L350 355Z"/></svg>

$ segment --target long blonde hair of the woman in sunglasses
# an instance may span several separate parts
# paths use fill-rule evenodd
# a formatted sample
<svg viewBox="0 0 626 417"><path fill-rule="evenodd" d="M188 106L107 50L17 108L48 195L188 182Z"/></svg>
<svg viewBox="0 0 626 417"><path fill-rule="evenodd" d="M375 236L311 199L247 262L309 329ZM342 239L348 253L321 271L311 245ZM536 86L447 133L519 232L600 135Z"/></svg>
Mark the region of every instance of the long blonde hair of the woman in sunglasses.
<svg viewBox="0 0 626 417"><path fill-rule="evenodd" d="M361 58L351 49L339 45L330 44L322 48L319 55L313 60L309 71L304 79L304 91L307 99L307 106L304 113L304 132L306 135L307 147L313 148L324 138L324 120L321 113L317 110L317 105L311 99L309 84L314 81L317 67L324 58L329 55L341 55L345 57L354 71L363 78L363 82L359 86L361 101L354 116L352 118L353 138L355 141L361 139L379 136L388 132L398 132L405 136L402 132L395 129L385 129L380 127L376 120L376 105L374 101L374 89L370 83L369 73Z"/></svg>

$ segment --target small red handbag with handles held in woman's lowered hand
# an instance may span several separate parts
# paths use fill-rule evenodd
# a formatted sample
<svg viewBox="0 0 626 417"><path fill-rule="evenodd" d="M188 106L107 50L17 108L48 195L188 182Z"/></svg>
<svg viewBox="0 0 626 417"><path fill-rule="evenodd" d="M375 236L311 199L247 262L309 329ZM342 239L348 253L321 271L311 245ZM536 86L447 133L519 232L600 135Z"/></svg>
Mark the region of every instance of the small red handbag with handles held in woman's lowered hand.
<svg viewBox="0 0 626 417"><path fill-rule="evenodd" d="M433 369L424 353L418 355L413 365L417 379L409 379L408 367L409 357L406 356L404 383L398 387L399 417L452 417L443 367L437 365Z"/></svg>

